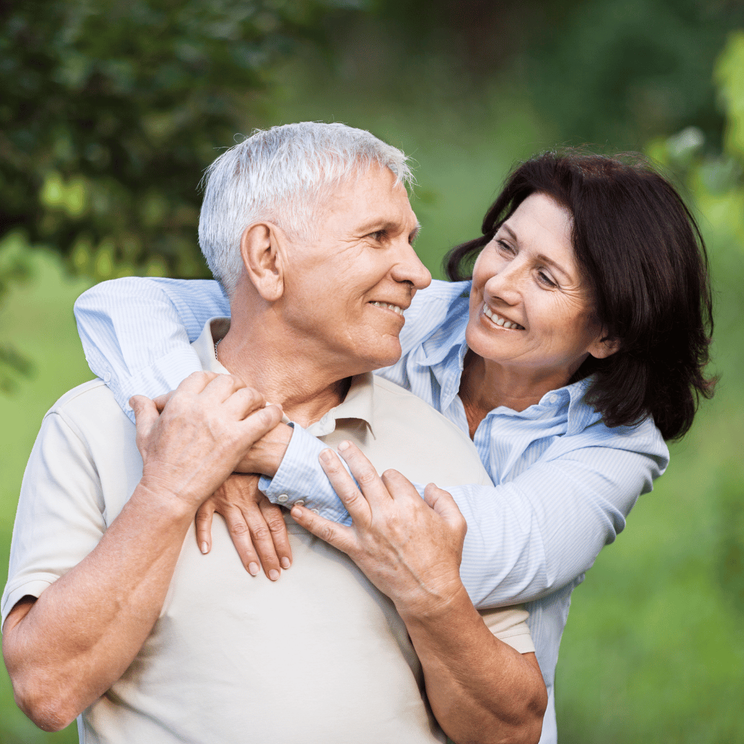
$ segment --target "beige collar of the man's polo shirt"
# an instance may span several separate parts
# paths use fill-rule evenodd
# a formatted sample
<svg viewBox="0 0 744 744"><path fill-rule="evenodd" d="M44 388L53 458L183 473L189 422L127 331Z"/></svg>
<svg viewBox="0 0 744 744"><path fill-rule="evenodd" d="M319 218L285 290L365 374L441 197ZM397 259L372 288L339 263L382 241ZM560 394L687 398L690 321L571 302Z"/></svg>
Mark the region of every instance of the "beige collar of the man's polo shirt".
<svg viewBox="0 0 744 744"><path fill-rule="evenodd" d="M204 324L201 335L191 344L196 355L199 356L202 369L218 374L230 374L230 371L219 363L217 354L214 353L215 341L224 338L228 330L230 330L230 318L210 318ZM337 420L357 419L364 421L374 437L373 411L374 379L372 373L358 374L351 378L351 386L344 400L335 408L327 411L320 420L310 424L307 431L315 437L323 437L336 429ZM286 416L283 422L290 423Z"/></svg>

